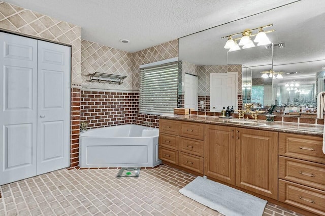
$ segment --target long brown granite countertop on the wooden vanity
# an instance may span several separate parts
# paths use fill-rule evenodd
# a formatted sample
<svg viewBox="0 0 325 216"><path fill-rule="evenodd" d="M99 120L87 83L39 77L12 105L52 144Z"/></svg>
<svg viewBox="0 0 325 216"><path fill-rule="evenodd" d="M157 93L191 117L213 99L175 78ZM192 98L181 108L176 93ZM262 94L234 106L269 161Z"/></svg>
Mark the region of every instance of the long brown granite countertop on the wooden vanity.
<svg viewBox="0 0 325 216"><path fill-rule="evenodd" d="M251 129L263 129L265 131L285 132L303 135L323 136L324 125L321 124L306 124L306 123L293 123L293 122L282 122L266 120L257 120L257 122L232 122L230 118L220 118L217 116L205 116L205 115L161 115L160 118L191 121L199 123L209 123L224 126L236 126ZM232 118L237 119L238 118Z"/></svg>

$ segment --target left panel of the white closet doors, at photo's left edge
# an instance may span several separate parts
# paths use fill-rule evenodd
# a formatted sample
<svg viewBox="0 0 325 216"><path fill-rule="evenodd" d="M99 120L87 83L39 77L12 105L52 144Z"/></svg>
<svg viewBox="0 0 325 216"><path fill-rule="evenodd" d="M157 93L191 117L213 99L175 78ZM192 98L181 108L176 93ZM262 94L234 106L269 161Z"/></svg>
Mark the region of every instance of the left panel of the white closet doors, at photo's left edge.
<svg viewBox="0 0 325 216"><path fill-rule="evenodd" d="M0 32L0 185L36 176L37 40Z"/></svg>

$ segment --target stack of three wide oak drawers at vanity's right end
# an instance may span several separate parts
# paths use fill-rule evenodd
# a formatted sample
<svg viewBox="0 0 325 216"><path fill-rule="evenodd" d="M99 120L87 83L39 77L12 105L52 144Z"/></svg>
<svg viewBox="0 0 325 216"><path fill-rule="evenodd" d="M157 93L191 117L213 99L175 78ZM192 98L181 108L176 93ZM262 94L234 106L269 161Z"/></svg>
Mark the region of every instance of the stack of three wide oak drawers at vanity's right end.
<svg viewBox="0 0 325 216"><path fill-rule="evenodd" d="M322 137L279 133L279 201L325 215Z"/></svg>

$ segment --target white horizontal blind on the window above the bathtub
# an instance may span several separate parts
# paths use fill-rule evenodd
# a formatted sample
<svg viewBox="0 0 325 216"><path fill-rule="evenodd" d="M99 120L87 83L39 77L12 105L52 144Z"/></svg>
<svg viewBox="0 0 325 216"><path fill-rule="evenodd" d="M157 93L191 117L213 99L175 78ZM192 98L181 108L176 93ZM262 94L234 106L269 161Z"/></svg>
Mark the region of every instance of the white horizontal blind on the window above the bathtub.
<svg viewBox="0 0 325 216"><path fill-rule="evenodd" d="M140 112L173 113L177 107L177 62L140 69Z"/></svg>

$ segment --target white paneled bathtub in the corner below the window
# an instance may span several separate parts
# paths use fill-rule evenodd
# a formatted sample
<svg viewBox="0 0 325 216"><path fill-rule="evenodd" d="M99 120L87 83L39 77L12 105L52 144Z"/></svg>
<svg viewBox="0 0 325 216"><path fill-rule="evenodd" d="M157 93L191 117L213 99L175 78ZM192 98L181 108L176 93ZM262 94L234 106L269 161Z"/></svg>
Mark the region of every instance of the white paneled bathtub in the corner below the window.
<svg viewBox="0 0 325 216"><path fill-rule="evenodd" d="M153 167L158 159L157 128L125 124L80 134L80 167Z"/></svg>

